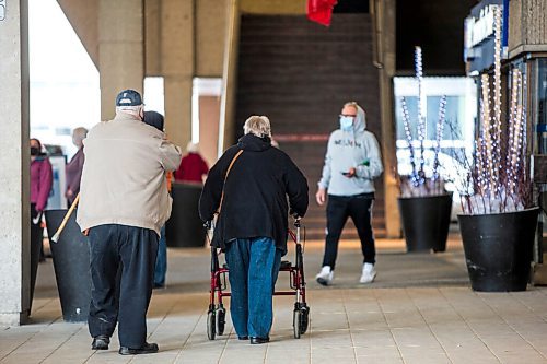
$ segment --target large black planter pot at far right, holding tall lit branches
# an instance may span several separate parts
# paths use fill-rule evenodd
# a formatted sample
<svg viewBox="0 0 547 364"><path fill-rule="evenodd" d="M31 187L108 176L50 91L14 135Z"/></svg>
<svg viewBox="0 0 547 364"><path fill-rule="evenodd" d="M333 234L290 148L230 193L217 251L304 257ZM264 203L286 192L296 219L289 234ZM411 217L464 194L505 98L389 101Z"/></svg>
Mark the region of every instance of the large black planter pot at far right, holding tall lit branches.
<svg viewBox="0 0 547 364"><path fill-rule="evenodd" d="M538 212L457 216L474 291L526 290Z"/></svg>

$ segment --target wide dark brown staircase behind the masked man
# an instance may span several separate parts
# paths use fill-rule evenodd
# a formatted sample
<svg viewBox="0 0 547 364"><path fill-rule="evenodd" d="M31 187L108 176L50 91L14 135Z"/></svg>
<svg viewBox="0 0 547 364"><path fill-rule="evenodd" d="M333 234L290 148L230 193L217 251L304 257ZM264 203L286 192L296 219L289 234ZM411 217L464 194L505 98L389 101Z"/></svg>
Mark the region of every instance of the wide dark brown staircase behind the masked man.
<svg viewBox="0 0 547 364"><path fill-rule="evenodd" d="M379 71L372 66L369 14L334 14L330 27L305 16L243 15L238 59L236 137L251 115L266 115L274 138L310 185L307 237L324 238L325 208L315 203L329 133L345 102L366 110L368 129L381 140ZM374 208L376 236L385 235L383 180ZM346 238L356 238L353 228Z"/></svg>

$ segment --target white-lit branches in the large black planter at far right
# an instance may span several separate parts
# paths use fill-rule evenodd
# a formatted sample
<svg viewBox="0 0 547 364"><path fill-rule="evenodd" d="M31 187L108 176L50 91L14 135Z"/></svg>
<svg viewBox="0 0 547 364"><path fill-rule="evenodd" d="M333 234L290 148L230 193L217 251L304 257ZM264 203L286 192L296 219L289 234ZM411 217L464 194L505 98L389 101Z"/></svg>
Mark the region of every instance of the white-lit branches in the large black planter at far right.
<svg viewBox="0 0 547 364"><path fill-rule="evenodd" d="M473 193L462 193L467 214L502 213L526 209L532 203L532 181L526 165L527 136L524 95L526 80L517 68L510 73L509 111L501 111L501 19L502 7L494 9L493 77L481 77L481 131L466 180ZM507 138L503 138L507 134ZM469 186L465 190L469 190Z"/></svg>

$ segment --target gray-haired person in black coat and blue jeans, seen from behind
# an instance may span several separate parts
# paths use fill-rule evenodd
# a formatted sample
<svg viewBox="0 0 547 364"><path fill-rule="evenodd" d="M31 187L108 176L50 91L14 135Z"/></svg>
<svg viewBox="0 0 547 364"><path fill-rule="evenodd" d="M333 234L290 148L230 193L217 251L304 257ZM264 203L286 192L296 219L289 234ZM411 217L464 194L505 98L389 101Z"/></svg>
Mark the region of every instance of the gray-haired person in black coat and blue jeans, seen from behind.
<svg viewBox="0 0 547 364"><path fill-rule="evenodd" d="M226 255L232 321L240 340L257 344L269 341L288 212L304 216L307 181L284 152L271 146L267 117L249 117L244 132L209 172L199 214L209 222L219 213L211 244Z"/></svg>

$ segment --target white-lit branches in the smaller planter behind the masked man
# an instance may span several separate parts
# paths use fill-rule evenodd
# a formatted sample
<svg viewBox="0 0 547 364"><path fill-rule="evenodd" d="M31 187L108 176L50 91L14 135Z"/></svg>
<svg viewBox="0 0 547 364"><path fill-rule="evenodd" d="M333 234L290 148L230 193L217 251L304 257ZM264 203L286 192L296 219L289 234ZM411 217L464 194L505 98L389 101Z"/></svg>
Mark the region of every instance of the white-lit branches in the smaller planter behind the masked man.
<svg viewBox="0 0 547 364"><path fill-rule="evenodd" d="M418 138L419 155L416 151L416 142L412 138L410 126L410 115L407 102L401 97L400 105L403 111L403 125L405 137L410 153L411 172L409 176L401 177L400 190L403 197L437 196L445 193L444 181L441 178L439 167L439 153L441 152L441 139L446 119L446 96L442 96L439 103L439 119L437 124L435 144L433 149L433 165L431 176L426 175L426 138L427 138L427 98L423 89L423 61L420 47L415 48L415 72L418 82L418 116L416 122L416 136Z"/></svg>

